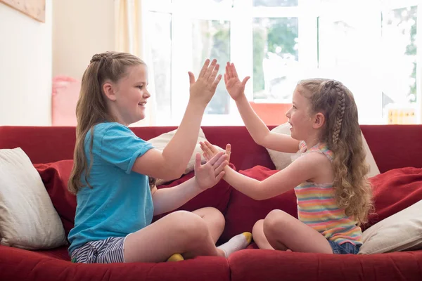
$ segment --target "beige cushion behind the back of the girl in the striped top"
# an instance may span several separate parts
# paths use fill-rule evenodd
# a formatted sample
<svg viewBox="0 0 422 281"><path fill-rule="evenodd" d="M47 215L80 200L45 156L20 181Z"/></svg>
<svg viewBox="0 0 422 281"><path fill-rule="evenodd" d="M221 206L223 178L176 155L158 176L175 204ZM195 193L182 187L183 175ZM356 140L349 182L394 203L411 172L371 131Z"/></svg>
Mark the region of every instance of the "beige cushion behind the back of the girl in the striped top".
<svg viewBox="0 0 422 281"><path fill-rule="evenodd" d="M281 124L280 126L276 126L271 131L275 133L283 133L285 135L290 136L290 124L285 123ZM371 150L369 149L368 143L366 143L364 134L362 133L362 142L366 151L366 162L369 164L369 174L368 177L371 178L372 176L376 176L380 174L380 170L376 165L375 159L373 159L373 155ZM298 148L299 149L299 148ZM277 170L282 170L288 166L292 160L296 159L299 153L286 153L286 152L279 152L276 150L267 149L269 157L271 157L271 161L276 166Z"/></svg>

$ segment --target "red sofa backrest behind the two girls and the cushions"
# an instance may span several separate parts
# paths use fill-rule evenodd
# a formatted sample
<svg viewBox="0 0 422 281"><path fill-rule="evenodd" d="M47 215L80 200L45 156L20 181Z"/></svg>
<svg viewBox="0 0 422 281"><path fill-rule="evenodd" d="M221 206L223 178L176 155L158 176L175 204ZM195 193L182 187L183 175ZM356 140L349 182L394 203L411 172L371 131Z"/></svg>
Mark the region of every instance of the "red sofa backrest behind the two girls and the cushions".
<svg viewBox="0 0 422 281"><path fill-rule="evenodd" d="M265 148L256 145L245 126L203 126L210 143L232 145L231 162L236 169L262 165L274 169ZM269 129L274 126L269 126ZM404 166L422 167L422 125L362 125L362 132L381 173ZM132 127L148 140L176 129L174 126ZM0 149L22 148L32 163L72 159L75 127L0 126Z"/></svg>

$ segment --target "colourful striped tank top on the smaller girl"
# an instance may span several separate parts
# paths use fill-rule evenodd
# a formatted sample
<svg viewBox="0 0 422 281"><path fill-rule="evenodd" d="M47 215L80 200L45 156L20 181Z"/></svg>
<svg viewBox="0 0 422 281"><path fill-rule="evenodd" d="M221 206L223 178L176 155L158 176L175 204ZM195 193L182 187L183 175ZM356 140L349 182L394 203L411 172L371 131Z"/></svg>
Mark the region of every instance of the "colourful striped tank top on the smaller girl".
<svg viewBox="0 0 422 281"><path fill-rule="evenodd" d="M299 148L302 155L318 152L333 161L333 152L325 144L318 143L307 150L306 143L301 141ZM295 187L299 220L338 244L362 244L362 229L352 216L346 216L345 209L338 207L334 193L333 183L306 181Z"/></svg>

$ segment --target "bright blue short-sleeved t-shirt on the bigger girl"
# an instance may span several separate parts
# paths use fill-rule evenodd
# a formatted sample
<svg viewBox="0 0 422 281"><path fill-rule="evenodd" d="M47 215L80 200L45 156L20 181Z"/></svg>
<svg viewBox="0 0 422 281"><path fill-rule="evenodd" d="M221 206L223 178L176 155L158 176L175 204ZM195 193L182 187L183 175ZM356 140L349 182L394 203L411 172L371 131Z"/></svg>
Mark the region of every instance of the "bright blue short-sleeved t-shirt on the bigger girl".
<svg viewBox="0 0 422 281"><path fill-rule="evenodd" d="M88 164L90 145L91 130L84 142ZM124 237L151 224L153 199L148 176L132 171L136 158L151 148L151 143L122 124L94 126L93 163L88 176L92 188L86 185L77 192L75 227L68 235L70 254L87 242Z"/></svg>

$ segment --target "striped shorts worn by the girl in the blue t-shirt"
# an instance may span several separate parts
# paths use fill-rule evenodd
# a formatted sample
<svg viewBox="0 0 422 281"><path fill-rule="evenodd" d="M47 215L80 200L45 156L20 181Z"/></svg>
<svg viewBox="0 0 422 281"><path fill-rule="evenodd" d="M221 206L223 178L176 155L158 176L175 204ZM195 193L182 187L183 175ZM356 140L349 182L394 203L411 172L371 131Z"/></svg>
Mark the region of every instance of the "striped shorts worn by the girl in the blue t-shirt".
<svg viewBox="0 0 422 281"><path fill-rule="evenodd" d="M126 237L109 237L91 241L72 252L74 263L124 263L123 245Z"/></svg>

